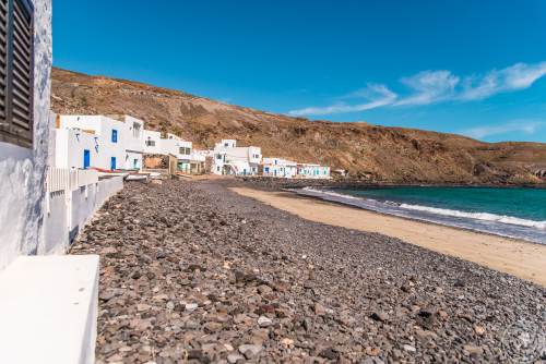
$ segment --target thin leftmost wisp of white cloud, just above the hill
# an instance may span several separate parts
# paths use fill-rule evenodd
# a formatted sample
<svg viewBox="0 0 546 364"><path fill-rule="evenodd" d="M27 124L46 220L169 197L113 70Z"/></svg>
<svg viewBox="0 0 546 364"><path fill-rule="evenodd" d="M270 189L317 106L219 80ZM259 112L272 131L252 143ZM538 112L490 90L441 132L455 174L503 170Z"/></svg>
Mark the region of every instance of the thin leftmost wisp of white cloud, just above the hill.
<svg viewBox="0 0 546 364"><path fill-rule="evenodd" d="M397 95L391 92L387 86L376 84L369 84L368 87L356 92L354 96L365 98L366 102L357 105L337 102L327 107L310 107L305 109L292 110L288 113L293 117L304 117L365 111L390 105L394 102L397 97Z"/></svg>

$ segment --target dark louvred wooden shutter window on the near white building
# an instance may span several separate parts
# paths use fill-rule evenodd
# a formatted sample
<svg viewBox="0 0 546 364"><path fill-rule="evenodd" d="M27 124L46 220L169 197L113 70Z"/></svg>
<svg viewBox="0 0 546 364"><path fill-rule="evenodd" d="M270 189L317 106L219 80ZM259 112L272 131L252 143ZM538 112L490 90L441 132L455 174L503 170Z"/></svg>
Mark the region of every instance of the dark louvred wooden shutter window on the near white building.
<svg viewBox="0 0 546 364"><path fill-rule="evenodd" d="M0 142L33 145L34 9L0 1Z"/></svg>

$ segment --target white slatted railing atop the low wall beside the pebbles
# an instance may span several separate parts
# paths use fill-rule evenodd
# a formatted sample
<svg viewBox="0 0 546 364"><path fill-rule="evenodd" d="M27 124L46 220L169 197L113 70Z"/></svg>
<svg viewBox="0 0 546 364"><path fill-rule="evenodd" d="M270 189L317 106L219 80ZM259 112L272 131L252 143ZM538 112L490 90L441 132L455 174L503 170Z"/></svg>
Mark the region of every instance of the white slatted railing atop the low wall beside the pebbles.
<svg viewBox="0 0 546 364"><path fill-rule="evenodd" d="M47 169L47 192L74 191L85 185L98 182L98 172L95 170L78 170L52 168Z"/></svg>

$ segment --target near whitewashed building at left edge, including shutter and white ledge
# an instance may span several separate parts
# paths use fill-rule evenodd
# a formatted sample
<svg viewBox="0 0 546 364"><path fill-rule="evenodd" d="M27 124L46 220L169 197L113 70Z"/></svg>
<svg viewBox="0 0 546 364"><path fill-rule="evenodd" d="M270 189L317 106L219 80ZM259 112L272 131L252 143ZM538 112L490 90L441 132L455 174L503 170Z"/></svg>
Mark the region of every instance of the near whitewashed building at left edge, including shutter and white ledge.
<svg viewBox="0 0 546 364"><path fill-rule="evenodd" d="M98 256L61 255L62 232L46 238L55 209L47 187L55 160L51 15L51 0L0 4L2 363L94 362Z"/></svg>

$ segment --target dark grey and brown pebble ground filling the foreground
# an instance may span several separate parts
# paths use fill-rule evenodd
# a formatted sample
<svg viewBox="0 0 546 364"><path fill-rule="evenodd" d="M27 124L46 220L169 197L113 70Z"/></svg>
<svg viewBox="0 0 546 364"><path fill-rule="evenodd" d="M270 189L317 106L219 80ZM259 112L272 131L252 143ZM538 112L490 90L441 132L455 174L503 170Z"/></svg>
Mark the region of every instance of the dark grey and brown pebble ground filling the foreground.
<svg viewBox="0 0 546 364"><path fill-rule="evenodd" d="M229 183L242 182L129 183L80 234L72 254L102 258L98 363L541 356L544 288L306 221Z"/></svg>

